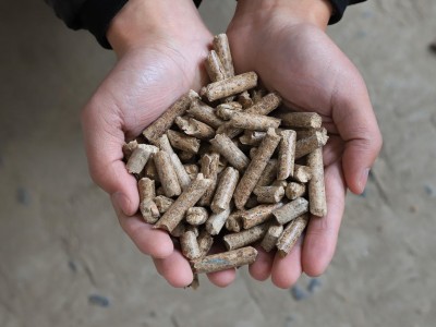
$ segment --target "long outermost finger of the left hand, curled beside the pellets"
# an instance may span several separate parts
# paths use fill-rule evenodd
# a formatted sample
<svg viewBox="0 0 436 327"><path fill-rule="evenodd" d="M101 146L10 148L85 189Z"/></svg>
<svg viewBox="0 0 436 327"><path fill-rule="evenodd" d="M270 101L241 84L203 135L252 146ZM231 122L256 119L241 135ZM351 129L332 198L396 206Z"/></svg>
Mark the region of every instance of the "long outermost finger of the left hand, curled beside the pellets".
<svg viewBox="0 0 436 327"><path fill-rule="evenodd" d="M107 106L106 106L107 105ZM105 108L102 108L105 106ZM112 108L112 109L110 109ZM92 99L82 113L86 155L93 180L132 216L140 205L136 180L122 161L124 133L113 104Z"/></svg>

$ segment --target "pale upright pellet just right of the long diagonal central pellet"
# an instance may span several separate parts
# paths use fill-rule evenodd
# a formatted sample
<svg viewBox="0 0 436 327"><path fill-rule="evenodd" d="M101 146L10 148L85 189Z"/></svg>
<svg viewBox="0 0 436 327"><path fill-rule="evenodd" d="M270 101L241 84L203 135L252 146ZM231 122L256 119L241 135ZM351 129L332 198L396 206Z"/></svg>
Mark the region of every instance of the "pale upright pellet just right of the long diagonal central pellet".
<svg viewBox="0 0 436 327"><path fill-rule="evenodd" d="M280 132L281 141L279 145L279 167L277 172L278 180L286 180L293 175L295 160L296 133L292 130Z"/></svg>

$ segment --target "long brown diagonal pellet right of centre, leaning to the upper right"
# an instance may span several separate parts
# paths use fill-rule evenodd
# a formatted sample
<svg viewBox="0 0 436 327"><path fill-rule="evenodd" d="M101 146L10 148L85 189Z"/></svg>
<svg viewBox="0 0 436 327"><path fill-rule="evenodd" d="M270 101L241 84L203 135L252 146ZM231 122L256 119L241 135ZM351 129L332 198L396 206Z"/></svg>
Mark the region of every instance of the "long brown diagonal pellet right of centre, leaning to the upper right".
<svg viewBox="0 0 436 327"><path fill-rule="evenodd" d="M279 142L280 136L276 134L274 129L269 129L258 147L256 156L250 162L234 191L233 198L237 208L243 209Z"/></svg>

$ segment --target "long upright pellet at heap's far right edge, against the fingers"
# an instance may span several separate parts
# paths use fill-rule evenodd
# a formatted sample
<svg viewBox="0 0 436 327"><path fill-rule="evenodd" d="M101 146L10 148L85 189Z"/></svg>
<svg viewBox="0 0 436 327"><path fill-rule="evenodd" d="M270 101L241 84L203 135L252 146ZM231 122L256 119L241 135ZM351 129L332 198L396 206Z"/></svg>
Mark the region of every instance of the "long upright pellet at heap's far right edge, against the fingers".
<svg viewBox="0 0 436 327"><path fill-rule="evenodd" d="M327 199L322 148L307 156L307 165L312 169L312 179L308 182L310 210L312 215L324 217L327 215Z"/></svg>

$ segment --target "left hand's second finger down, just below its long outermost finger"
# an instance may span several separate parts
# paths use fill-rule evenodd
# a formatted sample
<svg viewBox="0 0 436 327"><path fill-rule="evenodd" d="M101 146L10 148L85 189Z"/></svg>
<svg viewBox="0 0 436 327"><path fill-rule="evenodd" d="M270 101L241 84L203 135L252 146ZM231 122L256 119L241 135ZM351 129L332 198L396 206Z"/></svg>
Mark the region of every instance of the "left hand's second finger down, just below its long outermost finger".
<svg viewBox="0 0 436 327"><path fill-rule="evenodd" d="M112 201L121 228L132 239L137 249L147 255L157 258L169 257L174 246L166 231L154 229L138 215L125 216L119 205Z"/></svg>

